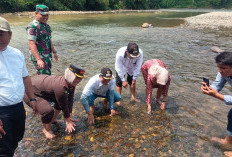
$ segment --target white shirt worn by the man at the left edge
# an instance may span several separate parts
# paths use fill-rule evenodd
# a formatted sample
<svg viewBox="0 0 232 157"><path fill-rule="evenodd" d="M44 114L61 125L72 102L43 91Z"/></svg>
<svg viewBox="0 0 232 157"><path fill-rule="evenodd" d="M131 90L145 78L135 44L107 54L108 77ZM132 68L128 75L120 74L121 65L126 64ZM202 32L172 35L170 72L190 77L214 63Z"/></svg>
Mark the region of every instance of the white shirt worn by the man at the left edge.
<svg viewBox="0 0 232 157"><path fill-rule="evenodd" d="M23 77L28 76L23 54L13 47L0 51L0 106L14 105L23 100Z"/></svg>

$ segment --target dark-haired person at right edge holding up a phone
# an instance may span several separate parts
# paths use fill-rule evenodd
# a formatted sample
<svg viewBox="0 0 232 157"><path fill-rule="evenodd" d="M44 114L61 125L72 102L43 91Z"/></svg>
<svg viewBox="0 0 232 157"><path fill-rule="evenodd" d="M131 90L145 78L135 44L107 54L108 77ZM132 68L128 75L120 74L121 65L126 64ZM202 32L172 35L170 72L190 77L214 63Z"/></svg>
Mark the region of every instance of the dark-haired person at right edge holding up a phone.
<svg viewBox="0 0 232 157"><path fill-rule="evenodd" d="M213 84L208 87L202 82L201 91L204 94L223 101L226 105L232 105L232 95L223 95L219 93L226 82L232 86L232 52L224 51L215 57L218 67L218 73ZM225 146L232 147L232 109L228 113L227 135L224 139L213 137L212 141Z"/></svg>

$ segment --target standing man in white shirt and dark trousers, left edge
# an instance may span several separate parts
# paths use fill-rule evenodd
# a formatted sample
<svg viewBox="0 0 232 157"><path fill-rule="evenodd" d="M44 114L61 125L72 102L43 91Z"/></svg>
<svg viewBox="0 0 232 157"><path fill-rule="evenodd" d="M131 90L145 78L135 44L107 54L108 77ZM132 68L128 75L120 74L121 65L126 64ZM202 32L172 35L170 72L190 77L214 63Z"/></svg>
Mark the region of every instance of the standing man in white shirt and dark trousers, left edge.
<svg viewBox="0 0 232 157"><path fill-rule="evenodd" d="M0 17L0 156L14 155L25 131L24 92L36 114L35 96L23 54L8 46L12 32L8 21Z"/></svg>

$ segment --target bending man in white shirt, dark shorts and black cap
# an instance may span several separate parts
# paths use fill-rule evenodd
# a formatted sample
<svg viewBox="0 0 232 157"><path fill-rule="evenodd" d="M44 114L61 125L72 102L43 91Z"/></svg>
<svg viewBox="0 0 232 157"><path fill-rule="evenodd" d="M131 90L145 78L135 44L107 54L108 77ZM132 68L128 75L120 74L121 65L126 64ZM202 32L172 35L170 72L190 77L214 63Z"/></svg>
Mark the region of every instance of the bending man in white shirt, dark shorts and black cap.
<svg viewBox="0 0 232 157"><path fill-rule="evenodd" d="M116 54L115 70L117 92L121 94L122 87L127 88L129 84L131 101L133 102L140 102L139 99L135 98L135 84L142 63L143 51L139 49L136 43L129 43L127 46L120 48ZM126 74L127 80L125 79Z"/></svg>

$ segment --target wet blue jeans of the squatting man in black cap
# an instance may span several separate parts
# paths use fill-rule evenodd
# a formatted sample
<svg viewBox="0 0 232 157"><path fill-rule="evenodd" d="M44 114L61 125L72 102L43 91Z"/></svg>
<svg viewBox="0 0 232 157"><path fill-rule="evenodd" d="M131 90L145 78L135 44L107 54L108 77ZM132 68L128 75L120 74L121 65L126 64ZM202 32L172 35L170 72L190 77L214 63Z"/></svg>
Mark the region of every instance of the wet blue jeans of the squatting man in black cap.
<svg viewBox="0 0 232 157"><path fill-rule="evenodd" d="M94 93L91 93L89 96L86 95L81 95L81 103L83 104L86 112L90 111L90 106L94 105L94 100L97 97L101 97L101 98L107 98L109 100L109 107L110 109L114 109L114 105L110 104L110 91L108 90L106 93L106 96L101 96L101 95L97 95ZM115 90L113 91L113 102L118 102L122 99L121 95L119 93L117 93Z"/></svg>

